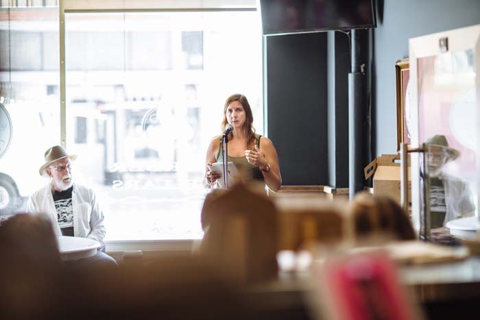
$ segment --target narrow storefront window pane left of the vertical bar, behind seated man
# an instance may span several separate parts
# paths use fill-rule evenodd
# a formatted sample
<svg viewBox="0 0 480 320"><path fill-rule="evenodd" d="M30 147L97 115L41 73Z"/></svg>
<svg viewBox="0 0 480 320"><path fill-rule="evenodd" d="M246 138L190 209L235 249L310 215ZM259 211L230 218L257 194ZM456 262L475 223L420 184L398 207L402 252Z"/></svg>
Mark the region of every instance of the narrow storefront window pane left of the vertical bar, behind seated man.
<svg viewBox="0 0 480 320"><path fill-rule="evenodd" d="M0 219L25 211L47 184L38 174L43 153L60 143L58 7L13 2L0 3L0 103L11 121L10 144L0 138Z"/></svg>

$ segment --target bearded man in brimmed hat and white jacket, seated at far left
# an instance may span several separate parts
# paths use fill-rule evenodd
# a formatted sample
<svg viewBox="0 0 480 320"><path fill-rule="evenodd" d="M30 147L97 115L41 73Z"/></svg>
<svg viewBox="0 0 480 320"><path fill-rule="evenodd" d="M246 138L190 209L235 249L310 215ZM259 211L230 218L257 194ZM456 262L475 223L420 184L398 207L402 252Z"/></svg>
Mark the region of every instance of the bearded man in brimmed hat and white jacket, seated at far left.
<svg viewBox="0 0 480 320"><path fill-rule="evenodd" d="M97 203L95 193L90 188L74 184L71 175L71 156L56 145L45 152L45 164L40 167L40 175L50 177L51 182L37 190L28 199L28 213L49 215L57 236L80 236L91 238L101 244L97 254L77 260L102 265L116 265L117 262L104 254L104 214Z"/></svg>

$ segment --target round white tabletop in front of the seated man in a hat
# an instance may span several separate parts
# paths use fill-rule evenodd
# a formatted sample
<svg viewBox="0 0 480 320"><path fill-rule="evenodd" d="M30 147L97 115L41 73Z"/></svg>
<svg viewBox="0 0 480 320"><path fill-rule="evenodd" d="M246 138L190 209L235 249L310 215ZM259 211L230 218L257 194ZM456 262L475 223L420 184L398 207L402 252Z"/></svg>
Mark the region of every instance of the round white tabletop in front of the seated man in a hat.
<svg viewBox="0 0 480 320"><path fill-rule="evenodd" d="M97 254L97 248L100 247L98 241L77 236L59 236L57 240L60 258L64 261L95 256L95 254Z"/></svg>

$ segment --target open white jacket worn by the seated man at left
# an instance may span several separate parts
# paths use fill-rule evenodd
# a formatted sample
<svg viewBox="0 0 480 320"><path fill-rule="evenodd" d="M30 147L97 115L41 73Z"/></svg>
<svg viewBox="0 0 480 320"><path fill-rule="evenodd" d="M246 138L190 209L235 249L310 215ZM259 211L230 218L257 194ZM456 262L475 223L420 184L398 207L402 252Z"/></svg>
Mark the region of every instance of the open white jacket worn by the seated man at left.
<svg viewBox="0 0 480 320"><path fill-rule="evenodd" d="M85 186L73 184L72 206L74 236L91 238L99 241L101 247L105 247L103 241L106 234L104 214L99 208L93 190ZM58 225L55 204L53 204L51 184L37 190L29 197L27 212L33 214L47 213L53 223L53 230L55 230L56 236L62 235L62 231Z"/></svg>

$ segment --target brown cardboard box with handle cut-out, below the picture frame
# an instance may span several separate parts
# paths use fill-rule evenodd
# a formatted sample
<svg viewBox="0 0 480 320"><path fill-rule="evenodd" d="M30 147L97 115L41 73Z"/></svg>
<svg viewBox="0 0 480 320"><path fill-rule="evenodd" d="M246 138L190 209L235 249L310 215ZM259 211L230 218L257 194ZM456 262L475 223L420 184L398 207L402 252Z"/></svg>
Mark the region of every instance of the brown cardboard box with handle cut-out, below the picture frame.
<svg viewBox="0 0 480 320"><path fill-rule="evenodd" d="M373 175L373 194L388 195L400 204L400 155L383 154L364 169L365 179ZM411 204L411 174L408 169L408 201Z"/></svg>

